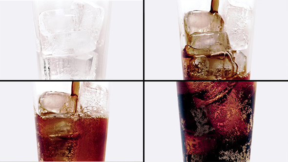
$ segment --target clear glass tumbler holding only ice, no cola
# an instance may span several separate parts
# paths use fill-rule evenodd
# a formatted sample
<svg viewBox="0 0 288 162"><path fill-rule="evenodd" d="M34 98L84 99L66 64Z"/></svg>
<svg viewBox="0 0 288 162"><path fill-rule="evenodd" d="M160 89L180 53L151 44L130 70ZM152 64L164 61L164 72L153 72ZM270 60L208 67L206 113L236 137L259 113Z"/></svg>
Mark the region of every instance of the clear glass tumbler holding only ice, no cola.
<svg viewBox="0 0 288 162"><path fill-rule="evenodd" d="M34 0L41 80L104 80L110 23L108 0Z"/></svg>

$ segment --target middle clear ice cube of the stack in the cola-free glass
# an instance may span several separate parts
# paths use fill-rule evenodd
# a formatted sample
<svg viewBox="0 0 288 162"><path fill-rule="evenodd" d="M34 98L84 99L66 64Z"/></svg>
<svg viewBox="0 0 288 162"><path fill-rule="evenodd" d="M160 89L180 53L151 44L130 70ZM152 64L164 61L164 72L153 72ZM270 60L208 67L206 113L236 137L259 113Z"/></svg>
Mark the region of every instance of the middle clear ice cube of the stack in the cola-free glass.
<svg viewBox="0 0 288 162"><path fill-rule="evenodd" d="M44 55L71 55L91 52L96 49L93 37L88 31L69 31L56 33L42 39L42 52Z"/></svg>

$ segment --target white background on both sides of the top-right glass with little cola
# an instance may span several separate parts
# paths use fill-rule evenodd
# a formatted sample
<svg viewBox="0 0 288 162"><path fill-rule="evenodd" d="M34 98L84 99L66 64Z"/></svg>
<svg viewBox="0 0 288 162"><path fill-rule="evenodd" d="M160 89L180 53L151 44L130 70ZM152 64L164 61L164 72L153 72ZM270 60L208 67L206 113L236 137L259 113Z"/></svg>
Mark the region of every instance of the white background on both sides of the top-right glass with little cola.
<svg viewBox="0 0 288 162"><path fill-rule="evenodd" d="M183 80L176 0L145 0L145 80ZM251 80L288 80L288 0L257 0Z"/></svg>

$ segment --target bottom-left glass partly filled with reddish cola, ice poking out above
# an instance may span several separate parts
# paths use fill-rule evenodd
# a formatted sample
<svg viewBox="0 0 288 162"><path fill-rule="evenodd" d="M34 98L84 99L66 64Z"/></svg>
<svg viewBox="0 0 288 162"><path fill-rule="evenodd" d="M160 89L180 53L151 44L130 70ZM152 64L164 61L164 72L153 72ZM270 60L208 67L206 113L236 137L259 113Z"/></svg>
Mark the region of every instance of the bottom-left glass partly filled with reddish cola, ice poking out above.
<svg viewBox="0 0 288 162"><path fill-rule="evenodd" d="M104 162L109 82L35 82L38 160Z"/></svg>

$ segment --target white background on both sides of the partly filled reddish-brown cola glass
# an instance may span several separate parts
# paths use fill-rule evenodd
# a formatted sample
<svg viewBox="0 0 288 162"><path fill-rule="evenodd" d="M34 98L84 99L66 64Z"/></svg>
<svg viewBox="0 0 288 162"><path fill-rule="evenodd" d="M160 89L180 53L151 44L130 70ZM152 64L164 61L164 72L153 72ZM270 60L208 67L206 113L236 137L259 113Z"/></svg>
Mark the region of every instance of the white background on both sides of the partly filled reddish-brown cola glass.
<svg viewBox="0 0 288 162"><path fill-rule="evenodd" d="M38 161L32 82L1 82L0 162ZM143 161L143 82L112 82L106 162Z"/></svg>

